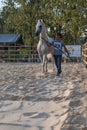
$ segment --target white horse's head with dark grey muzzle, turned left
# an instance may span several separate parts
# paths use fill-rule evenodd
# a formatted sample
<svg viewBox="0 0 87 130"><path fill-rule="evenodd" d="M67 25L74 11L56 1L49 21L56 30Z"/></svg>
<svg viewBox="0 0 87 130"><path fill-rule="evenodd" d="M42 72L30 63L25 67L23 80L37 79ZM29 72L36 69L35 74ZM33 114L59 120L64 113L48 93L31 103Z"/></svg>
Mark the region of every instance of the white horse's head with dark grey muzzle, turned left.
<svg viewBox="0 0 87 130"><path fill-rule="evenodd" d="M36 24L36 32L35 32L36 36L40 35L44 26L45 26L45 24L44 24L43 20L38 20L38 22Z"/></svg>

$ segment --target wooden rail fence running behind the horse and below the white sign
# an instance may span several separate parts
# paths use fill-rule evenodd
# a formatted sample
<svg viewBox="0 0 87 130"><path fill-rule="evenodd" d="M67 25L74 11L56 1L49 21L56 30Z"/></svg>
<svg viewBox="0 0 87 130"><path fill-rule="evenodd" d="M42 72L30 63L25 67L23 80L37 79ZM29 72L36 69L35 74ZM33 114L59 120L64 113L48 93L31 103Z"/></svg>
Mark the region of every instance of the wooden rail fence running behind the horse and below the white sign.
<svg viewBox="0 0 87 130"><path fill-rule="evenodd" d="M85 54L84 54L85 55ZM72 62L80 62L81 57L71 57ZM0 62L40 62L35 46L0 46ZM50 60L49 60L50 61ZM63 62L69 62L67 57Z"/></svg>

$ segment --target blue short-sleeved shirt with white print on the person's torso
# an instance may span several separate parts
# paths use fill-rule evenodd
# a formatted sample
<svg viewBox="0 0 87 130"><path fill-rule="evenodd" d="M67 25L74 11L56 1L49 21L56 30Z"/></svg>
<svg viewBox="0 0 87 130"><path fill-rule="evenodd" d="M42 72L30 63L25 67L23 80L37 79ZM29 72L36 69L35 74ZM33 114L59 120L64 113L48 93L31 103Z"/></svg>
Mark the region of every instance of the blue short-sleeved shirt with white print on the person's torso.
<svg viewBox="0 0 87 130"><path fill-rule="evenodd" d="M62 55L62 47L64 46L64 42L63 40L55 40L52 42L53 46L54 46L54 55ZM57 48L59 49L57 49Z"/></svg>

